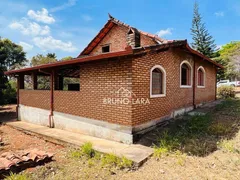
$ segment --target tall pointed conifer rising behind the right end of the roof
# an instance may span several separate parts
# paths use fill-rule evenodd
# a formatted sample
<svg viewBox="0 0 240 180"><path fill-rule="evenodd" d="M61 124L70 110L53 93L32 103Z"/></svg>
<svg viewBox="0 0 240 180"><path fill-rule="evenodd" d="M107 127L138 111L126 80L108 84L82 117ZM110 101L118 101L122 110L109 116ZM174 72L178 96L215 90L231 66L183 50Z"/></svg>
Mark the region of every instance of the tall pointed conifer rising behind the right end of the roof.
<svg viewBox="0 0 240 180"><path fill-rule="evenodd" d="M197 2L194 4L191 35L193 40L192 47L195 50L210 58L214 56L216 45L213 37L209 34L205 24L202 22Z"/></svg>

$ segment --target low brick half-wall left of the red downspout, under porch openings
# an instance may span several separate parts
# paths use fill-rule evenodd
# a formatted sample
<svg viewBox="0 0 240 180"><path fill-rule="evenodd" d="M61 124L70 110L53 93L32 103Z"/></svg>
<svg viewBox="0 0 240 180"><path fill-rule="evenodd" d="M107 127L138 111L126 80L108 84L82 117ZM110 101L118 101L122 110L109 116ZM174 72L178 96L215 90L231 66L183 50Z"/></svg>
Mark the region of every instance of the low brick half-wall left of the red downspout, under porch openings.
<svg viewBox="0 0 240 180"><path fill-rule="evenodd" d="M19 90L19 103L41 109L50 109L49 90Z"/></svg>

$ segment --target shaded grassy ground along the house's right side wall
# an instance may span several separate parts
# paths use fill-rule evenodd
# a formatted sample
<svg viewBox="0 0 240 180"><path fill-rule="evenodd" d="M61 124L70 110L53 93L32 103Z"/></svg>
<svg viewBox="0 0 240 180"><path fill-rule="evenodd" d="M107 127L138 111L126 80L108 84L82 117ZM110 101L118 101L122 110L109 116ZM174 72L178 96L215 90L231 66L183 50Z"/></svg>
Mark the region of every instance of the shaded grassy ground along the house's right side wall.
<svg viewBox="0 0 240 180"><path fill-rule="evenodd" d="M204 106L196 112L205 115L185 115L169 121L140 137L137 144L152 146L159 151L181 151L188 155L207 156L222 140L232 139L240 127L240 99Z"/></svg>

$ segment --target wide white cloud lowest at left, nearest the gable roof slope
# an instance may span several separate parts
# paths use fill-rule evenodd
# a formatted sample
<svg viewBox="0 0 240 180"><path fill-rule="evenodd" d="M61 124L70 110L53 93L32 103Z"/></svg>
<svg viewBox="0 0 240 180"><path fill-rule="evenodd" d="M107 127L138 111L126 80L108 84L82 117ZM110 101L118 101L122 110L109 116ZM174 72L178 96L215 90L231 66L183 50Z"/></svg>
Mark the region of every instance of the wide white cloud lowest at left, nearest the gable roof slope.
<svg viewBox="0 0 240 180"><path fill-rule="evenodd" d="M61 50L66 52L74 52L77 50L71 42L63 42L54 39L52 36L48 37L35 37L33 38L34 44L42 50Z"/></svg>

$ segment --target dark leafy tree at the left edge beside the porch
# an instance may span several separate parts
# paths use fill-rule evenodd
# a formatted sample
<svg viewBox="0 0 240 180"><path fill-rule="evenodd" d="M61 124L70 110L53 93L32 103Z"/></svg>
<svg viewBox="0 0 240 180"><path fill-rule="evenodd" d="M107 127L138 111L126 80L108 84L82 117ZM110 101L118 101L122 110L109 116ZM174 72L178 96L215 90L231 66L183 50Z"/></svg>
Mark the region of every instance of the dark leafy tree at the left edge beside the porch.
<svg viewBox="0 0 240 180"><path fill-rule="evenodd" d="M4 71L16 69L16 67L23 66L25 62L26 53L21 46L9 39L0 38L0 105L9 103L9 91L12 92Z"/></svg>

